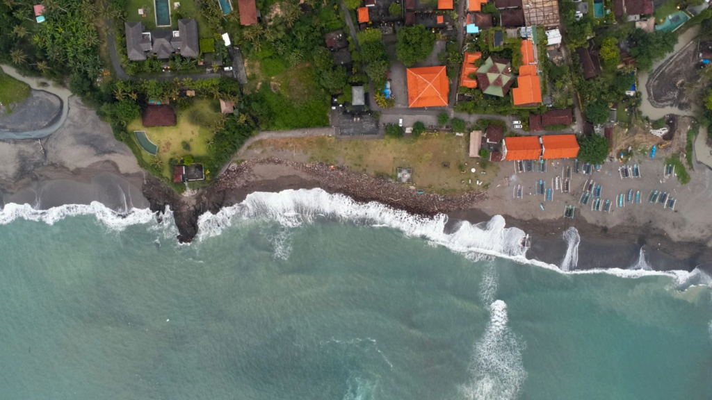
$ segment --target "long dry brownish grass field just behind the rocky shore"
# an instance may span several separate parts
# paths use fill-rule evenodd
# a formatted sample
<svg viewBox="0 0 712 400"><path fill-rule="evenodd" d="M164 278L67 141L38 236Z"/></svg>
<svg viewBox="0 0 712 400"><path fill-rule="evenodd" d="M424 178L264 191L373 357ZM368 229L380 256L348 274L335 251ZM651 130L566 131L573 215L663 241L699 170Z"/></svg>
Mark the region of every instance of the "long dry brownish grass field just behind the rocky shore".
<svg viewBox="0 0 712 400"><path fill-rule="evenodd" d="M429 192L456 194L481 189L496 177L497 164L486 167L468 157L469 138L453 133L424 134L418 139L336 140L333 137L270 139L250 147L255 157L342 164L357 172L394 178L398 167L413 169L413 184ZM443 167L443 163L450 163ZM476 173L471 173L471 168ZM486 174L480 172L485 171ZM472 179L469 184L468 180ZM464 183L461 181L464 180ZM484 181L482 186L476 180Z"/></svg>

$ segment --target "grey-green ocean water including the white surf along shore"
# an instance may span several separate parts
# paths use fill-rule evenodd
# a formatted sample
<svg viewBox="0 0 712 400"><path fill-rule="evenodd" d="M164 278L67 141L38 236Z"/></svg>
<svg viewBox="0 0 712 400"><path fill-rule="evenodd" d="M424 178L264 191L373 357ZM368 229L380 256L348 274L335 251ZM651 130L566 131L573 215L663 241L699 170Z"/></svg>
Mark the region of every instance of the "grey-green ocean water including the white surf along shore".
<svg viewBox="0 0 712 400"><path fill-rule="evenodd" d="M0 211L3 399L709 399L700 271L525 261L495 217L444 231L312 191L201 218ZM567 272L562 272L566 270Z"/></svg>

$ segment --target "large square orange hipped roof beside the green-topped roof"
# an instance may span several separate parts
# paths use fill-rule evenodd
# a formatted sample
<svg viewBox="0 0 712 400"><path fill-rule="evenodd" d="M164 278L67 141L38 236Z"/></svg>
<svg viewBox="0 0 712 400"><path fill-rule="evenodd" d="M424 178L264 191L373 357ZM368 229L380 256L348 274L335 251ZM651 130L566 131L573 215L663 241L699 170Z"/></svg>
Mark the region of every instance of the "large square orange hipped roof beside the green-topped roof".
<svg viewBox="0 0 712 400"><path fill-rule="evenodd" d="M407 69L408 107L447 105L450 91L444 66Z"/></svg>

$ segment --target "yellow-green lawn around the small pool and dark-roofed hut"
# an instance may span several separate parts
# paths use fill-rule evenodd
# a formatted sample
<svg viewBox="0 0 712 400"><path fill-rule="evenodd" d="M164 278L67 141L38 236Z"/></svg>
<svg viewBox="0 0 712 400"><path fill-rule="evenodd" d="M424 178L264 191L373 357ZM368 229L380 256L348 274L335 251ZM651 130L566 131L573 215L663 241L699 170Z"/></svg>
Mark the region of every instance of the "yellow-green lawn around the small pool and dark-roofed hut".
<svg viewBox="0 0 712 400"><path fill-rule="evenodd" d="M220 112L215 112L211 107L211 100L196 100L188 110L178 113L178 123L174 127L143 127L141 119L133 120L127 126L128 132L145 130L147 137L158 145L158 157L163 164L163 174L171 177L168 161L178 159L186 154L194 157L207 155L206 141L213 137L213 131L205 122L214 121L220 117ZM204 121L200 123L200 121ZM135 139L134 139L135 140ZM182 147L182 142L187 142L189 150ZM141 152L146 162L151 162L153 156Z"/></svg>

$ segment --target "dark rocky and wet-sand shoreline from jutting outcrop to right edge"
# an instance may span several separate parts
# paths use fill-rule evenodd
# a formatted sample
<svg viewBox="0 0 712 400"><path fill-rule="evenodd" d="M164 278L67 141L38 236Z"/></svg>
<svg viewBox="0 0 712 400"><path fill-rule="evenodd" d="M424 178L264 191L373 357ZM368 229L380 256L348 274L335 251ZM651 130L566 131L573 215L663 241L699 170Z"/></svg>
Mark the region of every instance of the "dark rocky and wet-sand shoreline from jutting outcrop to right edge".
<svg viewBox="0 0 712 400"><path fill-rule="evenodd" d="M446 228L454 227L459 221L476 224L493 217L478 208L478 204L486 199L483 192L470 192L463 196L418 195L405 186L346 169L281 159L254 159L239 165L232 164L212 186L200 189L192 197L179 196L159 181L148 179L144 195L150 201L152 211L162 213L165 206L171 206L180 232L178 240L189 242L197 234L197 219L204 212L216 214L222 207L239 204L248 194L256 191L314 188L330 194L343 194L355 201L377 201L419 216L446 214L449 218ZM395 199L394 194L405 198ZM560 265L566 254L568 245L563 232L570 226L575 227L580 236L577 270L629 268L639 263L641 253L654 270L691 271L706 260L712 260L712 248L704 242L674 241L664 231L652 226L607 228L580 217L565 221L502 216L508 228L520 228L532 236L528 258L553 265Z"/></svg>

